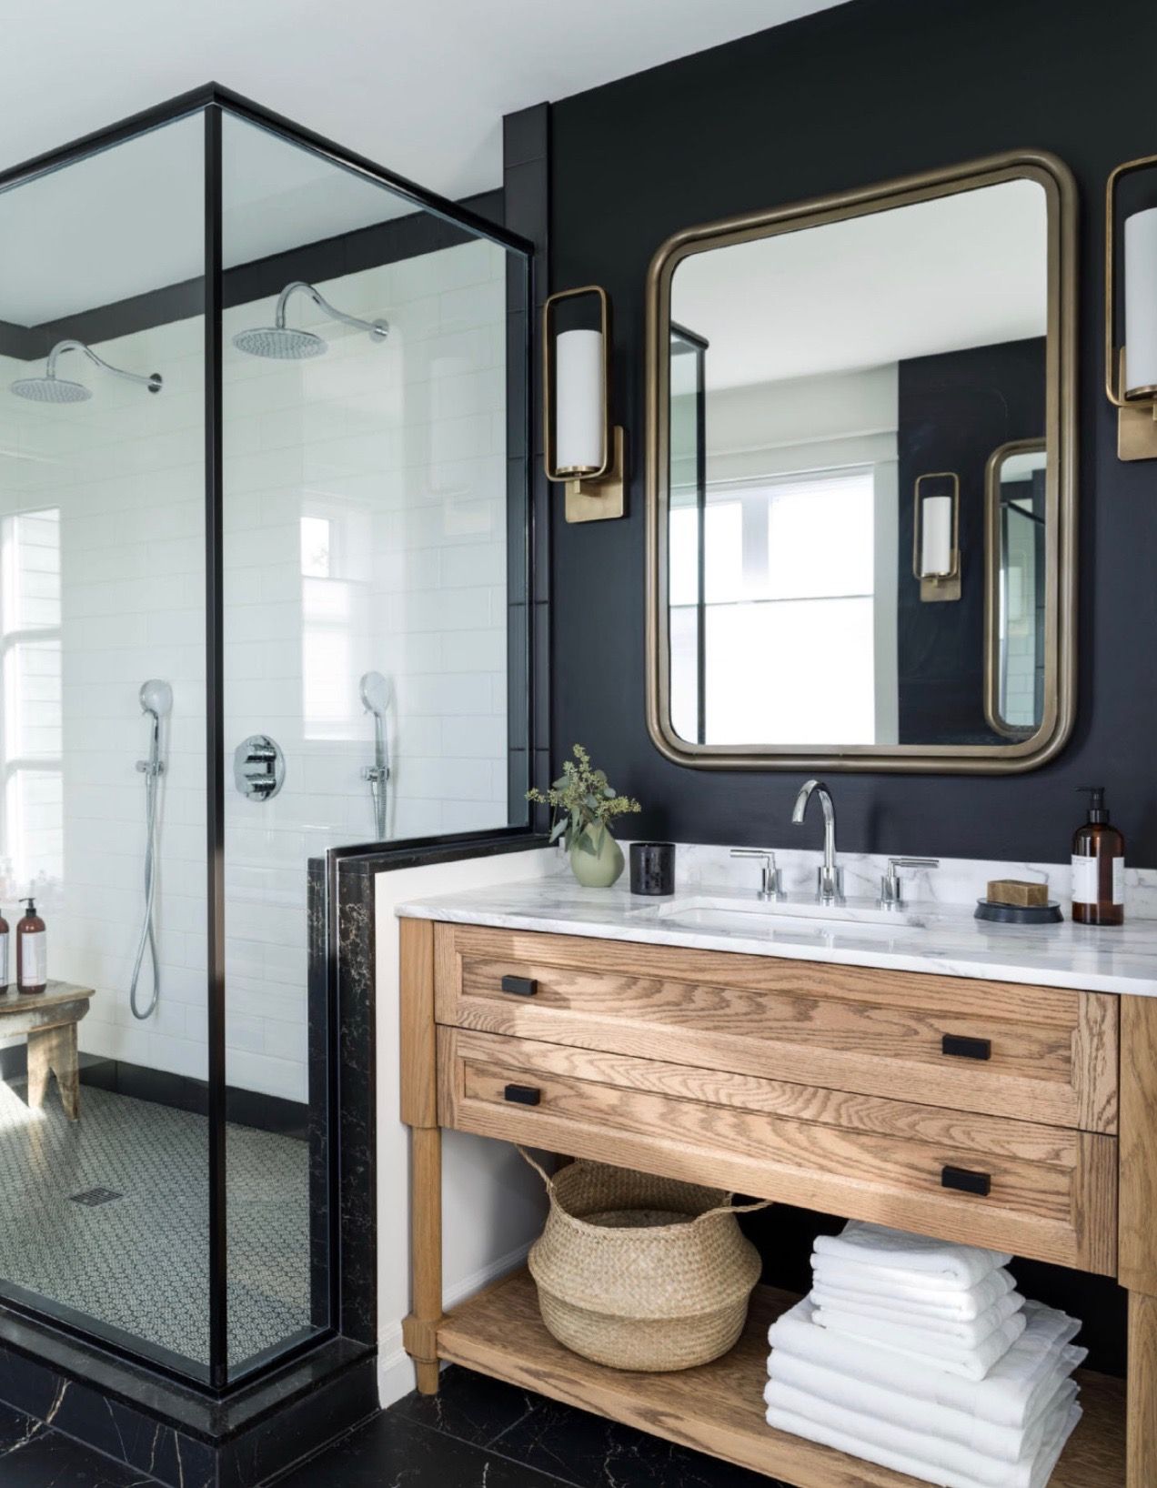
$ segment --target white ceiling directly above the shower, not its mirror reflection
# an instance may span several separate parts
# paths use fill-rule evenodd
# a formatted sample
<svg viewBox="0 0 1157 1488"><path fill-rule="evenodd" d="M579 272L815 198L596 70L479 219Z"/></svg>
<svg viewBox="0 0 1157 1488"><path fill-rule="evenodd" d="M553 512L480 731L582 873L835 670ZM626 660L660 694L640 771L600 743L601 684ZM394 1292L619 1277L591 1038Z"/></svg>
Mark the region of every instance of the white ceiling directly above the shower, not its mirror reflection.
<svg viewBox="0 0 1157 1488"><path fill-rule="evenodd" d="M446 196L501 118L837 0L0 0L0 170L211 79Z"/></svg>

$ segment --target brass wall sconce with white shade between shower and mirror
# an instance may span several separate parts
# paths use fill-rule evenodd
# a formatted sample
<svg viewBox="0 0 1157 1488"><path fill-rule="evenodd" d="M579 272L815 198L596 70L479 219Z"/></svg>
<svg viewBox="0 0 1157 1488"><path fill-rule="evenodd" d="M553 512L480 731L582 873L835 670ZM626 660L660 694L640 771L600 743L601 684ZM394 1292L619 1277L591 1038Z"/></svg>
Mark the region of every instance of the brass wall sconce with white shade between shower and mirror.
<svg viewBox="0 0 1157 1488"><path fill-rule="evenodd" d="M598 329L576 318L558 330L559 304L581 295L598 299ZM598 284L561 290L543 307L543 420L546 478L567 487L567 521L622 516L625 442L611 426L611 304Z"/></svg>

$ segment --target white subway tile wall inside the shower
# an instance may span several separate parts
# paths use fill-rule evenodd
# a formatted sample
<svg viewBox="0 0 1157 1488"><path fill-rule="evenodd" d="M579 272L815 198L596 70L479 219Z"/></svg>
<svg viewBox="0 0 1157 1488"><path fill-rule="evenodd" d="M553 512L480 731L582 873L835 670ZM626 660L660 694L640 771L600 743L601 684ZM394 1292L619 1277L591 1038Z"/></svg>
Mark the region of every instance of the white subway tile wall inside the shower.
<svg viewBox="0 0 1157 1488"><path fill-rule="evenodd" d="M329 351L272 362L231 338L272 324L274 298L225 320L228 1080L297 1101L306 860L376 835L361 674L394 689L388 836L510 820L506 254L471 243L318 287L388 341L296 296L291 323ZM97 987L83 1049L205 1077L202 324L97 350L164 391L94 372L91 402L36 405L7 393L27 363L0 359L0 903L37 879L51 975ZM174 705L161 1000L138 1022L147 677ZM286 756L268 802L232 786L250 734Z"/></svg>

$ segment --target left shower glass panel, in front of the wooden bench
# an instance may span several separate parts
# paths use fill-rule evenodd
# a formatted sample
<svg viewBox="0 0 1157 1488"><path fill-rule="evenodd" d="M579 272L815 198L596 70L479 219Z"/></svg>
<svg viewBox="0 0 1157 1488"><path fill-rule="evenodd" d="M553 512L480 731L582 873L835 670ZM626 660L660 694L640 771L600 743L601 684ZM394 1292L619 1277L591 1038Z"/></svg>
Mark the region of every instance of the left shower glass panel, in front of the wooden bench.
<svg viewBox="0 0 1157 1488"><path fill-rule="evenodd" d="M204 243L201 115L0 190L0 1298L199 1379Z"/></svg>

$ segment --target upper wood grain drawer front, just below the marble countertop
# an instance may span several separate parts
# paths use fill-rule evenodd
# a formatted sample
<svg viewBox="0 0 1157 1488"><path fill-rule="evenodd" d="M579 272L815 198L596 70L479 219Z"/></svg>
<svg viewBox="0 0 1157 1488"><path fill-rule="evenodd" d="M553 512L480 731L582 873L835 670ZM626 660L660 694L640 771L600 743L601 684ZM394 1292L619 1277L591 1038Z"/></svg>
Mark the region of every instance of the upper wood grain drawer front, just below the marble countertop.
<svg viewBox="0 0 1157 1488"><path fill-rule="evenodd" d="M436 987L482 1033L1117 1129L1109 994L451 924Z"/></svg>

